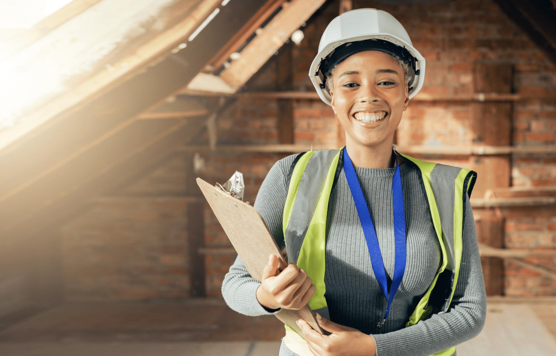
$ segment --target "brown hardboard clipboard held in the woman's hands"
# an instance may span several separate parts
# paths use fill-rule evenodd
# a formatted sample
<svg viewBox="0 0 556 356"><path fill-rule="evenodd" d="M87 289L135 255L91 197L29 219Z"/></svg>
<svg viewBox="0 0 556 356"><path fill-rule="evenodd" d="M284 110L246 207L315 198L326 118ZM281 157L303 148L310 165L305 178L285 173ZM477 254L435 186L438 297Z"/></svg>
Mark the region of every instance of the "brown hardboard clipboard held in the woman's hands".
<svg viewBox="0 0 556 356"><path fill-rule="evenodd" d="M262 270L268 263L271 253L279 258L278 268L280 270L286 268L286 261L282 257L280 249L254 207L232 197L201 178L197 178L197 184L251 277L261 281ZM303 333L295 323L297 319L304 319L313 329L322 334L322 329L316 322L309 305L305 305L299 310L281 309L276 317L294 329L301 337Z"/></svg>

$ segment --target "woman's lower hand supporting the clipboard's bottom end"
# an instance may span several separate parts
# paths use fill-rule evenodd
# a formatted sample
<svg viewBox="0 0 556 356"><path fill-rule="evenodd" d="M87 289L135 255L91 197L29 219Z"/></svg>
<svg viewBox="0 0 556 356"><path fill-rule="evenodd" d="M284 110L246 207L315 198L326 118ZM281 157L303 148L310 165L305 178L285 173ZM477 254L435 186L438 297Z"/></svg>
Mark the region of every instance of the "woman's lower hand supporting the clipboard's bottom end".
<svg viewBox="0 0 556 356"><path fill-rule="evenodd" d="M303 319L297 320L309 345L316 356L375 356L376 344L371 335L361 333L358 329L332 323L330 320L315 313L317 322L330 335L321 335L311 328Z"/></svg>

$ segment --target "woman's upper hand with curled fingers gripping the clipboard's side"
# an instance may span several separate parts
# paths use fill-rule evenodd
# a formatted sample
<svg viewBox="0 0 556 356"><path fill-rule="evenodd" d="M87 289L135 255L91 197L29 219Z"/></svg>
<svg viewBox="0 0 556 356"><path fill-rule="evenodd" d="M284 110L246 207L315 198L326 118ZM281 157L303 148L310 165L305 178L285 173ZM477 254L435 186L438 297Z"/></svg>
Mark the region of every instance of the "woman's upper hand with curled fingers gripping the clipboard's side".
<svg viewBox="0 0 556 356"><path fill-rule="evenodd" d="M307 272L290 263L282 272L278 269L278 257L269 256L269 262L262 272L262 283L257 288L257 300L267 309L301 309L316 287Z"/></svg>

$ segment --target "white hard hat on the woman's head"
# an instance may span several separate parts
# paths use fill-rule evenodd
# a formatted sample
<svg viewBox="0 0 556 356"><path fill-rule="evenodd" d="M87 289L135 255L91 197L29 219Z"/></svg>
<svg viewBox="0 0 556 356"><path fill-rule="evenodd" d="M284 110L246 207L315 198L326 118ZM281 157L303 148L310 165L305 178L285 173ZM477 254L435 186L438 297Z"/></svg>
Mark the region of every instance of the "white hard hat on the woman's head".
<svg viewBox="0 0 556 356"><path fill-rule="evenodd" d="M355 45L355 46L354 46ZM326 75L351 54L376 50L393 54L409 66L409 98L423 86L425 58L413 47L405 28L394 16L377 9L356 9L333 19L322 34L319 54L309 77L320 98L330 105Z"/></svg>

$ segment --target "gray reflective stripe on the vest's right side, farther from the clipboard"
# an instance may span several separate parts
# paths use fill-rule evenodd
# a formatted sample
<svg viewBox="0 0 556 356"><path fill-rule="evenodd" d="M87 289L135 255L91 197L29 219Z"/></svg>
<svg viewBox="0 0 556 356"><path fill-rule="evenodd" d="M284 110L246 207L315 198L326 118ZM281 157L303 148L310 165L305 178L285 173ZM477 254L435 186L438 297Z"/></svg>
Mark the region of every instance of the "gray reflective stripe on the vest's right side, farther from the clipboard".
<svg viewBox="0 0 556 356"><path fill-rule="evenodd" d="M454 199L455 179L461 168L436 164L430 172L430 185L433 188L434 200L440 215L440 225L446 241L446 253L448 253L448 265L454 272Z"/></svg>

